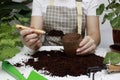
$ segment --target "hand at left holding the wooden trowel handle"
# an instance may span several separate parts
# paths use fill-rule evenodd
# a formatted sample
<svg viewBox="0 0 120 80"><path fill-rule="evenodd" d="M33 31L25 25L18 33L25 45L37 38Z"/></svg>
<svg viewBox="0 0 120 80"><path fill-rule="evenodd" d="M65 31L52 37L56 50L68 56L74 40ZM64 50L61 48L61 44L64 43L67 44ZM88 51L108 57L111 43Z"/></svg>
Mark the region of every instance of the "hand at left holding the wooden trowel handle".
<svg viewBox="0 0 120 80"><path fill-rule="evenodd" d="M32 29L21 30L20 34L22 36L23 44L33 51L38 50L42 45L40 35L35 33Z"/></svg>

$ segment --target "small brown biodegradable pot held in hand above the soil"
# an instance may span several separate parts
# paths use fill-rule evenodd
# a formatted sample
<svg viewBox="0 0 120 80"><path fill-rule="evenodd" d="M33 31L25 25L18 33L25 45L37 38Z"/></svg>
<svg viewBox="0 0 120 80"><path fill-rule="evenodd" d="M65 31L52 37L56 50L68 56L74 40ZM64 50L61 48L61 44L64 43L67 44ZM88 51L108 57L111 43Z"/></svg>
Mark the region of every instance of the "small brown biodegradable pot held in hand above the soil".
<svg viewBox="0 0 120 80"><path fill-rule="evenodd" d="M64 51L68 56L75 56L76 49L79 47L79 43L82 40L82 37L78 33L66 33L62 37L62 44Z"/></svg>

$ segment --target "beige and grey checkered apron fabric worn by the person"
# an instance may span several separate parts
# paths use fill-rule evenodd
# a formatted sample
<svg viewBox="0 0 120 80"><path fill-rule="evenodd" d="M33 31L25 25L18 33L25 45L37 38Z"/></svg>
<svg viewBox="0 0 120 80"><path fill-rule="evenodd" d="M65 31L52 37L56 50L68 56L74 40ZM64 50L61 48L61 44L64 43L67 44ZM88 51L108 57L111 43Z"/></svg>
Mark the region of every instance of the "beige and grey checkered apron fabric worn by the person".
<svg viewBox="0 0 120 80"><path fill-rule="evenodd" d="M44 14L44 30L61 30L65 33L77 33L77 9L61 6L47 6L46 14ZM85 14L82 15L82 35L85 33ZM61 37L45 36L44 46L60 46Z"/></svg>

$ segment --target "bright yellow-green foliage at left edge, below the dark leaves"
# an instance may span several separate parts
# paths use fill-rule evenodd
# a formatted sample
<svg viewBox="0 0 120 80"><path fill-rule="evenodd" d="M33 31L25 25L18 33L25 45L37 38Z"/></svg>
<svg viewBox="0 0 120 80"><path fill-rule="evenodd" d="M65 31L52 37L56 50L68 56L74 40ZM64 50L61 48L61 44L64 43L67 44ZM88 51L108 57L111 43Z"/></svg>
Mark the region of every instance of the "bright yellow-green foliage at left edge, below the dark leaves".
<svg viewBox="0 0 120 80"><path fill-rule="evenodd" d="M19 52L16 46L23 46L19 36L15 26L0 24L0 60L11 58Z"/></svg>

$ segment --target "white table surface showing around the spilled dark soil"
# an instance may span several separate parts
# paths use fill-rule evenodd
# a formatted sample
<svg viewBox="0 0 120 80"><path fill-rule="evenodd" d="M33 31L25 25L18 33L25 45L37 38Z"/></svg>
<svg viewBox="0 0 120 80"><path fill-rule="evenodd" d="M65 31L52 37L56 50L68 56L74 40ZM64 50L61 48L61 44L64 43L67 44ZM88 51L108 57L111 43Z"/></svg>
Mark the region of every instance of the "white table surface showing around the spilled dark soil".
<svg viewBox="0 0 120 80"><path fill-rule="evenodd" d="M59 49L63 49L62 46L43 46L41 47L40 50L59 50ZM109 49L108 48L98 48L96 50L96 55L99 55L101 57L104 57L106 52L108 52ZM30 57L25 56L24 55L24 50L22 50L20 53L18 53L15 57L8 59L8 61L11 64L14 63L22 63L22 61L26 61L28 60ZM9 75L7 72L5 72L4 70L2 70L1 68L1 63L0 62L0 80L16 80L14 79L11 75ZM32 67L27 66L27 67L17 67L17 69L27 78L30 71L34 70ZM89 78L86 75L81 75L78 77L73 77L73 76L66 76L66 77L51 77L49 75L44 75L41 73L41 71L39 71L40 75L46 77L48 80L92 80L92 73L91 73L91 77ZM120 80L120 73L111 73L108 74L106 70L102 70L100 72L95 73L95 80Z"/></svg>

